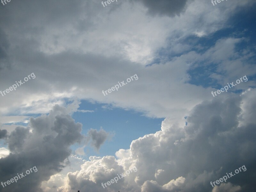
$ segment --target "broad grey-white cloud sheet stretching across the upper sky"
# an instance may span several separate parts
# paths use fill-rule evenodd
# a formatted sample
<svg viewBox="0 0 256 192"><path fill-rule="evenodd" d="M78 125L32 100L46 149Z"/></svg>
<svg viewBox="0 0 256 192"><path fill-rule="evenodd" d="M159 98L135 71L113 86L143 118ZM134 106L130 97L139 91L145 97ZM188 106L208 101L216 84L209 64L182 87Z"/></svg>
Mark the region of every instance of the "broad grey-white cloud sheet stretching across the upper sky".
<svg viewBox="0 0 256 192"><path fill-rule="evenodd" d="M10 71L6 68L0 70L0 81L4 82L1 90L31 72L36 74L36 79L26 82L19 90L8 93L8 97L2 97L0 113L3 115L14 112L24 115L47 113L55 104L64 105L66 98L78 98L113 104L113 107L132 108L150 117L177 118L203 100L209 99L207 94L210 90L187 83L191 79L187 71L194 65L205 63L205 60L219 62L220 54L223 61L220 66L225 68L219 66L218 70L231 71L228 73L230 76L234 76L232 71L238 73L239 67L243 65L244 72L255 71L247 64L242 65L245 57L236 60L238 53L233 48L240 39L220 41L212 45L207 54L196 52L195 44L189 43L190 41L184 43L188 37L193 39L193 34L198 31L203 31L208 36L226 28L227 19L236 13L237 7L248 5L248 0L232 4L225 2L225 12L221 12L220 7L215 6L213 9L212 4L195 0L193 3L188 2L186 11L176 17L148 17L144 5L133 4L131 1L118 2L118 9L111 11L107 7L100 7L96 0L76 1L72 3L72 9L63 11L65 7L71 6L65 0L62 1L63 9L58 12L52 10L58 9L60 3L48 2L36 0L31 4L29 1L18 1L10 4L12 8L9 11L3 9L0 12L2 17L6 17L6 20L0 21L5 34L0 38L4 38L1 41L6 42L3 44L4 51L12 63ZM160 12L162 6L170 8L177 1L143 2L152 9L153 6L156 7ZM185 1L179 2L185 4ZM25 6L28 4L33 9ZM179 7L181 9L182 3L173 6L173 9ZM14 19L15 14L23 15L20 21ZM220 17L216 17L220 14ZM125 24L120 18L126 18ZM7 35L9 38L5 39ZM167 48L162 57L159 54L162 55L163 47ZM218 52L220 48L221 52ZM244 52L248 53L248 58L250 49L245 49ZM233 60L223 60L225 55ZM16 57L20 57L20 60L16 60L18 63L14 65ZM152 64L153 59L160 63ZM236 70L229 70L234 61ZM148 64L152 65L145 67ZM84 68L87 70L82 72ZM6 73L12 75L5 76ZM135 73L139 80L113 92L111 97L104 97L101 93ZM228 78L226 74L223 76ZM243 89L248 88L249 82L242 86Z"/></svg>

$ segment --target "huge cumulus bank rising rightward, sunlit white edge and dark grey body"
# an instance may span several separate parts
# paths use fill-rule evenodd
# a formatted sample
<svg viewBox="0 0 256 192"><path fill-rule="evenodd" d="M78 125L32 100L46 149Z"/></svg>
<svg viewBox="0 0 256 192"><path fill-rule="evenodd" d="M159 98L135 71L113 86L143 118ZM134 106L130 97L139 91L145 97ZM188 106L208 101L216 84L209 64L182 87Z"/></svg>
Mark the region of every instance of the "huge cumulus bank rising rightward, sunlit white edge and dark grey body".
<svg viewBox="0 0 256 192"><path fill-rule="evenodd" d="M81 165L81 170L70 172L59 192L74 190L99 191L101 183L136 166L138 171L111 184L108 191L173 192L173 191L253 191L256 160L256 124L252 114L242 118L246 111L254 113L256 89L227 99L205 101L190 112L188 124L180 127L166 118L161 131L133 140L130 149L116 152L113 156L95 157ZM241 104L246 108L242 108ZM243 123L239 126L239 121ZM234 161L235 160L235 161ZM234 172L245 165L227 182L212 189L210 181ZM250 168L249 168L250 167Z"/></svg>

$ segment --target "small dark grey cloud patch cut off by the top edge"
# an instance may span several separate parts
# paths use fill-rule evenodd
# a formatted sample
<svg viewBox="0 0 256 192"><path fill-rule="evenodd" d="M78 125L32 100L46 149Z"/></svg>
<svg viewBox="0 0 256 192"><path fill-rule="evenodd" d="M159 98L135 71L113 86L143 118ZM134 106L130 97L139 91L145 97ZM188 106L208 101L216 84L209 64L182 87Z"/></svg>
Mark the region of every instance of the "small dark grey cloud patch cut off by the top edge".
<svg viewBox="0 0 256 192"><path fill-rule="evenodd" d="M151 15L179 15L185 9L188 0L140 0Z"/></svg>

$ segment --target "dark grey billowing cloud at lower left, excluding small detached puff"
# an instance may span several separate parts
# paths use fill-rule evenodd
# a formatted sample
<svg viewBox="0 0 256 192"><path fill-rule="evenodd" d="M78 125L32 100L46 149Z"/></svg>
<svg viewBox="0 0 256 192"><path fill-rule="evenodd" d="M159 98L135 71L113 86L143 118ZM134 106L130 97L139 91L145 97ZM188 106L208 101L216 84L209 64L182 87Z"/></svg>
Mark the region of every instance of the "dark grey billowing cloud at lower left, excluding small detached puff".
<svg viewBox="0 0 256 192"><path fill-rule="evenodd" d="M5 188L1 186L0 191L42 191L41 182L60 172L71 154L70 146L83 140L81 131L82 124L75 123L66 108L57 105L49 115L31 118L27 128L17 127L7 139L11 154L0 159L0 181L34 166L38 171Z"/></svg>

